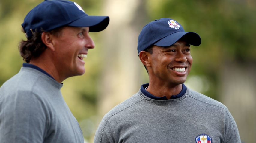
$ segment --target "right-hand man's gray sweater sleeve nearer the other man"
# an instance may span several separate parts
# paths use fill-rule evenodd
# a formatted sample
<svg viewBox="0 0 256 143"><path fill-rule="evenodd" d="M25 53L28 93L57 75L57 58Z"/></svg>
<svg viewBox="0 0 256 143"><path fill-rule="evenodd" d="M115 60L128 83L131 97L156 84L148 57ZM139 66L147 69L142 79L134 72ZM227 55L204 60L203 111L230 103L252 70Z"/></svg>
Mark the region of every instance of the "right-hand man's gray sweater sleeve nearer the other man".
<svg viewBox="0 0 256 143"><path fill-rule="evenodd" d="M94 143L115 143L114 136L111 131L111 125L109 122L105 121L104 117L96 130Z"/></svg>

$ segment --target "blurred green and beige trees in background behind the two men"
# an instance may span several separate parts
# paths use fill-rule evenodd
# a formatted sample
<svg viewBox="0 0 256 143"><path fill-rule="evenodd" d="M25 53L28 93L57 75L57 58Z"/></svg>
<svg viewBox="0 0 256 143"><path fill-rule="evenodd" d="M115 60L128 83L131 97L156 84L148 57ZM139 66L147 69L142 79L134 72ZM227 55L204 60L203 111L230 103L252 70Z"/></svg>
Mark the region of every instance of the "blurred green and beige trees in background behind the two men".
<svg viewBox="0 0 256 143"><path fill-rule="evenodd" d="M0 86L22 66L18 44L21 23L43 0L0 0ZM85 142L92 143L100 120L111 108L148 83L138 58L137 38L155 19L177 20L198 33L192 46L192 71L186 86L225 104L242 142L256 135L255 0L74 0L88 15L108 15L109 26L90 33L95 48L85 59L86 72L63 82L61 91L79 121ZM43 14L43 11L42 11Z"/></svg>

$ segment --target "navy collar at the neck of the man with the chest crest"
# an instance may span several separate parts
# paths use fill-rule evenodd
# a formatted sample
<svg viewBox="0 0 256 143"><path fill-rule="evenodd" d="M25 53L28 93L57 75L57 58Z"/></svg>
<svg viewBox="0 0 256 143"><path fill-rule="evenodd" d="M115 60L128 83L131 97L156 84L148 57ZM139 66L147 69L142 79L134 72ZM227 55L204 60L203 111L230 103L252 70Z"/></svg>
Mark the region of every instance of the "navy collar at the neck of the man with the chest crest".
<svg viewBox="0 0 256 143"><path fill-rule="evenodd" d="M151 99L155 99L155 100L168 100L166 96L164 97L156 97L152 94L150 94L145 88L148 87L149 83L146 84L142 84L141 85L141 92L146 95L147 97L151 98ZM170 99L176 99L176 98L180 98L182 97L187 91L187 87L185 86L185 84L182 84L182 90L180 91L179 94L177 95L172 95Z"/></svg>

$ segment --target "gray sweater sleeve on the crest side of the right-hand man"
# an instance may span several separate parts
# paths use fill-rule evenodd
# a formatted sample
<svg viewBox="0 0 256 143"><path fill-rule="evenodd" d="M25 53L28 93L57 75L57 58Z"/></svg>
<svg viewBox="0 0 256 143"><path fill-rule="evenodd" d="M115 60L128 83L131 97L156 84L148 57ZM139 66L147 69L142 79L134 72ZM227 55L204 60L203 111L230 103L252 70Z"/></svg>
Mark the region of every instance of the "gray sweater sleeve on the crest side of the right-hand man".
<svg viewBox="0 0 256 143"><path fill-rule="evenodd" d="M225 110L225 137L223 143L241 143L237 124L226 108Z"/></svg>

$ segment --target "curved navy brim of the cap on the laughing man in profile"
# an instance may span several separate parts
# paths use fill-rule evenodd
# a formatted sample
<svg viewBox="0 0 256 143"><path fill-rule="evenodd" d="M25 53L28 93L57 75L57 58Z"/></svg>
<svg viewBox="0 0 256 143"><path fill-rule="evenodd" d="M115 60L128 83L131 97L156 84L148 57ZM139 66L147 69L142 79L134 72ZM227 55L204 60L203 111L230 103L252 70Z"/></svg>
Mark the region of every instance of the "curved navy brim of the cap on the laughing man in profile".
<svg viewBox="0 0 256 143"><path fill-rule="evenodd" d="M109 17L87 15L67 25L73 27L89 27L90 32L100 32L109 25Z"/></svg>

